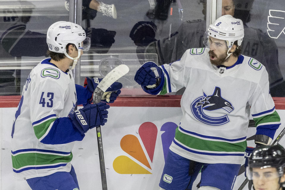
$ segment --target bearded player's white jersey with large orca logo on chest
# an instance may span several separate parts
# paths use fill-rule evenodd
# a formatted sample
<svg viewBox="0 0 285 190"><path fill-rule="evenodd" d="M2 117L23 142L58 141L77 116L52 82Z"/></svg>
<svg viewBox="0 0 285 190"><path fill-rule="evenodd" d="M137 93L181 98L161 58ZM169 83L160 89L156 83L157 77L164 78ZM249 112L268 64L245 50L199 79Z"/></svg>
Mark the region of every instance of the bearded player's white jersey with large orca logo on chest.
<svg viewBox="0 0 285 190"><path fill-rule="evenodd" d="M273 138L280 125L268 74L258 61L242 55L233 66L214 66L208 51L189 49L181 60L160 66L165 80L158 94L186 87L170 150L202 163L241 164L250 114L256 134Z"/></svg>

